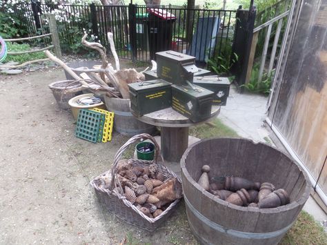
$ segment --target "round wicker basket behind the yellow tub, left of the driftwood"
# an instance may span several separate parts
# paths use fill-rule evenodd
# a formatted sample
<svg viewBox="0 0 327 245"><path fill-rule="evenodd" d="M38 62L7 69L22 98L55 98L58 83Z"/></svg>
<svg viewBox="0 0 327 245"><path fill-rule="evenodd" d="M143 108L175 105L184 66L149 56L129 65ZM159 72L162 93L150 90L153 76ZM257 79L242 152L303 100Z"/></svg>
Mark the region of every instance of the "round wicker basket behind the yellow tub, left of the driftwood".
<svg viewBox="0 0 327 245"><path fill-rule="evenodd" d="M49 88L52 91L59 108L65 110L70 109L68 101L77 95L83 94L82 91L85 90L79 81L74 80L54 81L49 84Z"/></svg>

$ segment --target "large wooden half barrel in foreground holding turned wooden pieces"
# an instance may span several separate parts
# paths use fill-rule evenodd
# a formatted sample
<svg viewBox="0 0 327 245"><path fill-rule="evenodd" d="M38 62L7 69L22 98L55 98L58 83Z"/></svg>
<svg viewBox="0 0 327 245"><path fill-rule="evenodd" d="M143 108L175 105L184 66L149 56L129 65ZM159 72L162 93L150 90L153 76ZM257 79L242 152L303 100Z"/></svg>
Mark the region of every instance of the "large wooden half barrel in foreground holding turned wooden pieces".
<svg viewBox="0 0 327 245"><path fill-rule="evenodd" d="M290 194L290 204L253 208L230 204L197 184L201 166L209 176L244 177L271 182ZM310 193L304 170L279 150L247 139L206 139L190 146L181 158L188 223L201 244L278 244Z"/></svg>

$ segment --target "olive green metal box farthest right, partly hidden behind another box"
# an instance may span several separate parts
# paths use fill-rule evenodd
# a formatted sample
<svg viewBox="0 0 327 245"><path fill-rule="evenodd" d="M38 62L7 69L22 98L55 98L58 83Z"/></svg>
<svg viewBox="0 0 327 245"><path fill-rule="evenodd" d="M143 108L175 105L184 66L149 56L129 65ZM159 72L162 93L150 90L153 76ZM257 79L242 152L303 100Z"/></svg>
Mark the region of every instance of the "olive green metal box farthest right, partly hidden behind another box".
<svg viewBox="0 0 327 245"><path fill-rule="evenodd" d="M212 97L212 105L226 106L230 88L230 81L228 77L195 77L193 79L193 84L214 92Z"/></svg>

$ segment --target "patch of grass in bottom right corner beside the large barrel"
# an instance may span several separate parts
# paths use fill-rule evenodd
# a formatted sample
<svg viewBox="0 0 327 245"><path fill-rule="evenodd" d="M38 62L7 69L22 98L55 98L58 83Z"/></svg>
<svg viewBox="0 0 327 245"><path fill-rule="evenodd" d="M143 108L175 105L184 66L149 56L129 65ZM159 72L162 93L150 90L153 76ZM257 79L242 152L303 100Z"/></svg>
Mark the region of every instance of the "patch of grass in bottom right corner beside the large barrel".
<svg viewBox="0 0 327 245"><path fill-rule="evenodd" d="M327 244L327 233L311 215L301 211L295 225L279 243L279 245L293 244Z"/></svg>

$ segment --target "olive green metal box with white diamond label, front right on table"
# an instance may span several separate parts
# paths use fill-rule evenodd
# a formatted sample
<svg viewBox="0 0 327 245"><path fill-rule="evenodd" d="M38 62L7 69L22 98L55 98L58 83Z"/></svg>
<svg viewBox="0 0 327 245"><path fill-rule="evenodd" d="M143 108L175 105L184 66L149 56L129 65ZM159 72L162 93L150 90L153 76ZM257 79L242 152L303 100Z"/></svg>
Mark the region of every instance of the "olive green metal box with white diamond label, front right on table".
<svg viewBox="0 0 327 245"><path fill-rule="evenodd" d="M172 84L172 109L193 122L204 121L211 115L213 92L196 85Z"/></svg>

